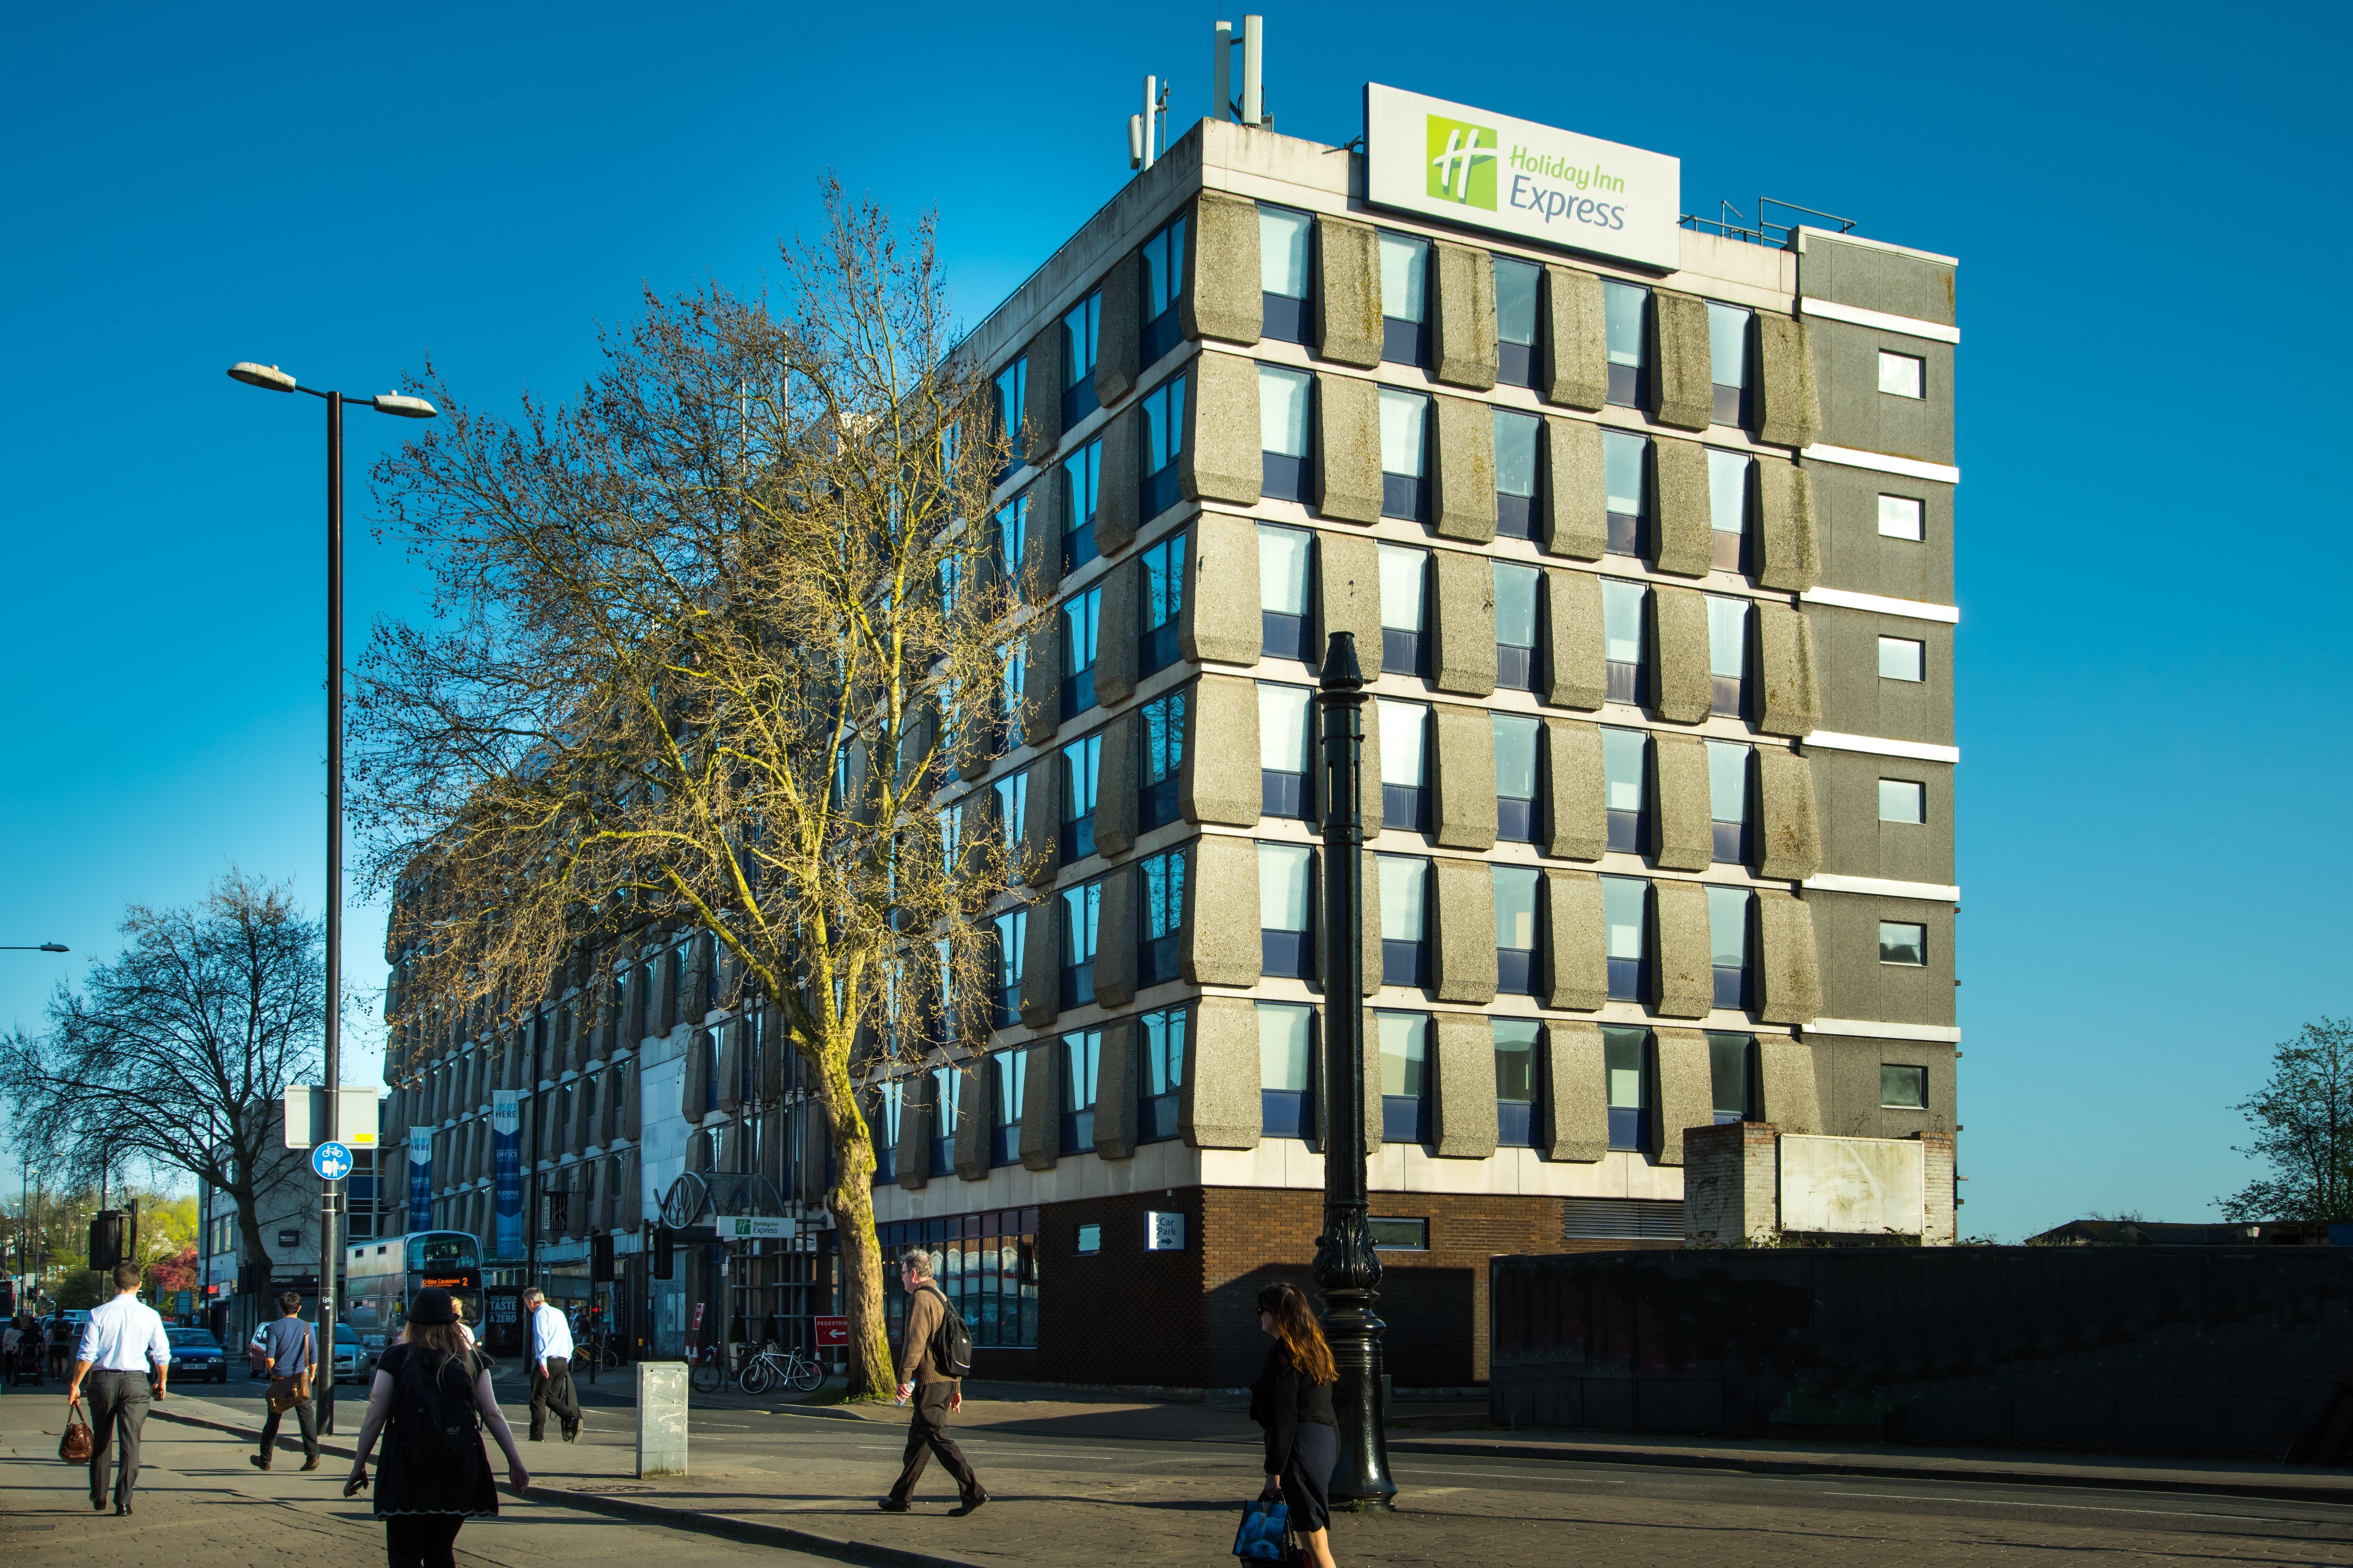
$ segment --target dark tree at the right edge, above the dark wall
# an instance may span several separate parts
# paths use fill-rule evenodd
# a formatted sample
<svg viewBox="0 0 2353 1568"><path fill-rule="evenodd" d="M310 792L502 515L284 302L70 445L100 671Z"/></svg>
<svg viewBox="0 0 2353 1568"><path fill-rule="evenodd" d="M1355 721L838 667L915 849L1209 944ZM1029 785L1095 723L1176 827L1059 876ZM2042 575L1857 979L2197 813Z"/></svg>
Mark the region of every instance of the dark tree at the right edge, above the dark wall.
<svg viewBox="0 0 2353 1568"><path fill-rule="evenodd" d="M2353 1220L2353 1019L2325 1017L2271 1052L2271 1081L2238 1111L2238 1154L2271 1175L2221 1198L2226 1220Z"/></svg>

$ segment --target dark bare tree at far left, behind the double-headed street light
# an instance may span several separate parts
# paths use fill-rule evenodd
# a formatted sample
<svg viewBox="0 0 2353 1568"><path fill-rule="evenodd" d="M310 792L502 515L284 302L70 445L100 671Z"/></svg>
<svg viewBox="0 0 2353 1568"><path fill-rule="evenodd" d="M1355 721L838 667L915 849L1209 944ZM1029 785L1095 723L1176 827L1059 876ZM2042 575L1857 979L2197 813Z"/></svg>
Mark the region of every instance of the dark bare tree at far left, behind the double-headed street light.
<svg viewBox="0 0 2353 1568"><path fill-rule="evenodd" d="M0 1041L14 1135L66 1187L134 1165L209 1182L268 1278L259 1201L301 1163L275 1111L318 1078L320 928L282 885L231 871L191 909L132 904L120 930L122 954L61 984L45 1031Z"/></svg>

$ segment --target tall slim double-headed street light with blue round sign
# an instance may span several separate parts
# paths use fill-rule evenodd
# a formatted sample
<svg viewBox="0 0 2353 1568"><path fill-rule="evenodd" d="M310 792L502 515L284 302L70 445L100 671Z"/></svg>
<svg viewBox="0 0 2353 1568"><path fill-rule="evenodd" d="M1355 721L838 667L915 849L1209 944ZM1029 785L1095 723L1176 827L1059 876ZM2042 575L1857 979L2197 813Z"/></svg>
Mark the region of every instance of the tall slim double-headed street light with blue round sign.
<svg viewBox="0 0 2353 1568"><path fill-rule="evenodd" d="M339 1128L344 1085L344 405L367 403L379 414L402 419L433 419L438 407L424 398L400 393L376 393L374 398L346 398L339 391L320 391L299 384L275 365L238 360L228 367L231 379L259 386L261 391L311 393L327 403L327 1017L325 1062L320 1078L327 1085L327 1125L313 1128L318 1142L334 1142ZM336 1182L320 1182L318 1196L318 1347L327 1361L320 1380L318 1429L334 1431L334 1260L336 1245Z"/></svg>

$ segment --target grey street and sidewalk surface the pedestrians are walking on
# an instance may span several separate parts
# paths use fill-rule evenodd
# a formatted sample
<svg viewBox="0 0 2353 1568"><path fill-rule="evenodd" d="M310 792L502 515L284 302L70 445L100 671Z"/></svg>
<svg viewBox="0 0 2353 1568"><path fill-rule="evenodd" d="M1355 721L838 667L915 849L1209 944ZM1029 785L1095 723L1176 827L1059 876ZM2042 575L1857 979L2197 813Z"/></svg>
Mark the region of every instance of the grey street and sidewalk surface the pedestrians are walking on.
<svg viewBox="0 0 2353 1568"><path fill-rule="evenodd" d="M958 1439L993 1500L951 1519L936 1469L911 1514L873 1500L896 1471L906 1413L793 1408L696 1396L692 1474L638 1481L628 1380L584 1389L581 1443L525 1443L534 1483L499 1521L468 1523L466 1563L786 1561L899 1568L1106 1556L1228 1559L1240 1502L1257 1493L1257 1429L1238 1410L1120 1394L969 1384ZM28 1398L31 1394L31 1398ZM226 1398L216 1396L226 1394ZM506 1389L501 1389L506 1394ZM341 1406L348 1455L358 1401ZM306 1561L327 1547L374 1561L381 1530L344 1502L348 1457L271 1474L245 1455L259 1387L174 1394L148 1422L148 1474L129 1521L94 1516L80 1469L56 1462L54 1389L0 1396L0 1561L40 1544L104 1547L96 1561L167 1552L176 1568ZM508 1417L522 1413L508 1403ZM1475 1401L1398 1408L1395 1509L1341 1514L1341 1563L1499 1563L1600 1554L1612 1563L1878 1568L1892 1556L1967 1568L2049 1563L2054 1552L2151 1561L2348 1563L2353 1476L2247 1464L2158 1464L2064 1455L1913 1453L1798 1443L1657 1443L1598 1434L1492 1431ZM224 1514L245 1504L247 1514ZM205 1514L212 1509L212 1514ZM42 1526L49 1526L42 1530ZM193 1528L193 1533L191 1533ZM155 1530L148 1537L148 1530ZM136 1537L136 1540L99 1540Z"/></svg>

